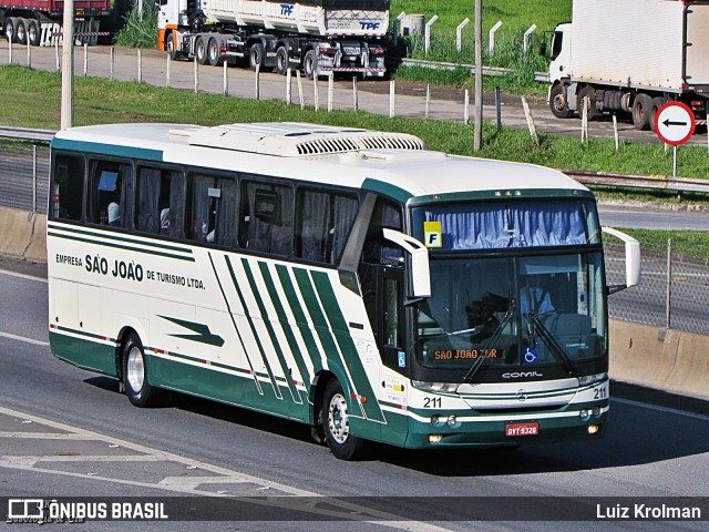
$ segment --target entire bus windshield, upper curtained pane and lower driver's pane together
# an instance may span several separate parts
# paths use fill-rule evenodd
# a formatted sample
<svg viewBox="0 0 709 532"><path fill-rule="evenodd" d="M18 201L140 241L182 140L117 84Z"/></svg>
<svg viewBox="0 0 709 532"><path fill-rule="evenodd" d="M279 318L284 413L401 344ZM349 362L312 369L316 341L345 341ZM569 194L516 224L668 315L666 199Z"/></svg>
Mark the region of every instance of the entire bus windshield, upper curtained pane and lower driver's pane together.
<svg viewBox="0 0 709 532"><path fill-rule="evenodd" d="M431 252L432 295L415 311L422 366L464 369L484 358L475 366L575 372L576 362L605 356L593 202L439 204L415 207L412 222Z"/></svg>

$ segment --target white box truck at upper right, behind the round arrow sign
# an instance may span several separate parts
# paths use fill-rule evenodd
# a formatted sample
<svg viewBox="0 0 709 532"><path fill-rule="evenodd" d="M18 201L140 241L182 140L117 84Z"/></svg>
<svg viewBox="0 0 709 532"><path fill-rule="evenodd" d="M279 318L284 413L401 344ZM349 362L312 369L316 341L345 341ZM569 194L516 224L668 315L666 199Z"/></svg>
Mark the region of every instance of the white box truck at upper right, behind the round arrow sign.
<svg viewBox="0 0 709 532"><path fill-rule="evenodd" d="M574 0L554 30L548 103L559 119L603 113L655 129L669 101L707 124L709 0ZM543 50L544 50L543 45Z"/></svg>

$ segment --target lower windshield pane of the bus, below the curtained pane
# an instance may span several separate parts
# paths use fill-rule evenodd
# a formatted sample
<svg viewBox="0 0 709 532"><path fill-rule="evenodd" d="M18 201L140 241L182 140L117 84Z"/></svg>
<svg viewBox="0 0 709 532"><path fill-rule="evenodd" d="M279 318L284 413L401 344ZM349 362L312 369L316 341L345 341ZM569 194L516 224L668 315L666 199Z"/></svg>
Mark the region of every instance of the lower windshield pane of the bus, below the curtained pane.
<svg viewBox="0 0 709 532"><path fill-rule="evenodd" d="M565 364L606 345L600 253L431 259L432 295L417 310L423 366Z"/></svg>

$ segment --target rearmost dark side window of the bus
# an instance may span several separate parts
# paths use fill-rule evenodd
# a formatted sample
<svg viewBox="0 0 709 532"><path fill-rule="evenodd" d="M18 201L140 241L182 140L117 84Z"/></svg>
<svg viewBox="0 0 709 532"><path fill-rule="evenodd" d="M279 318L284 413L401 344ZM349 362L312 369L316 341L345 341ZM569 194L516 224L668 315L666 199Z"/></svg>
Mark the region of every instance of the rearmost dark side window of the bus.
<svg viewBox="0 0 709 532"><path fill-rule="evenodd" d="M84 198L84 160L56 155L50 216L54 219L81 219Z"/></svg>

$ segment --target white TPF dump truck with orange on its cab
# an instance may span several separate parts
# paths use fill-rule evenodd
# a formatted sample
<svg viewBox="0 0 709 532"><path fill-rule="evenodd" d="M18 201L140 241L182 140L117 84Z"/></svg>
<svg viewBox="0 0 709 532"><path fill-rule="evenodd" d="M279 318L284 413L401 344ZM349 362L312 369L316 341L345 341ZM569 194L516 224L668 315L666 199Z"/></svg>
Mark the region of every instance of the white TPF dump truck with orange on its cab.
<svg viewBox="0 0 709 532"><path fill-rule="evenodd" d="M157 48L201 64L382 78L390 0L158 0Z"/></svg>

